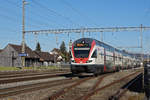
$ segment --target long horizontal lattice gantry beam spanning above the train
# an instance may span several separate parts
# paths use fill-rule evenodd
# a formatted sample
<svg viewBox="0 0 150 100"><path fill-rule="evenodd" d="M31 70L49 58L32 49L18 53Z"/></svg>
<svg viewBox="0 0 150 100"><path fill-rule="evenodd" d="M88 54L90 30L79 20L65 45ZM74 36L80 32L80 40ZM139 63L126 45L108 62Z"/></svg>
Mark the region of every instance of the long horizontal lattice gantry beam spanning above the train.
<svg viewBox="0 0 150 100"><path fill-rule="evenodd" d="M120 31L140 31L142 30L150 30L150 27L110 27L110 28L76 28L76 29L49 29L49 30L32 30L25 31L25 33L38 33L38 34L46 34L46 33L82 33L82 32L120 32Z"/></svg>

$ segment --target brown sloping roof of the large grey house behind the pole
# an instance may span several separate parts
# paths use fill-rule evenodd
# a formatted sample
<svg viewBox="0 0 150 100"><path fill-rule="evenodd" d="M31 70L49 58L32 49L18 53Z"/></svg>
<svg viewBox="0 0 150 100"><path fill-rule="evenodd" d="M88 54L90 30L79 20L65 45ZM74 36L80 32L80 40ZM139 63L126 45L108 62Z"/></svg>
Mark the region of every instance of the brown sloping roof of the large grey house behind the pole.
<svg viewBox="0 0 150 100"><path fill-rule="evenodd" d="M22 52L21 45L15 45L15 44L8 44L8 45L14 48L18 53ZM28 54L26 58L39 58L39 56L35 52L33 52L32 49L29 48L28 46L25 46L25 53Z"/></svg>

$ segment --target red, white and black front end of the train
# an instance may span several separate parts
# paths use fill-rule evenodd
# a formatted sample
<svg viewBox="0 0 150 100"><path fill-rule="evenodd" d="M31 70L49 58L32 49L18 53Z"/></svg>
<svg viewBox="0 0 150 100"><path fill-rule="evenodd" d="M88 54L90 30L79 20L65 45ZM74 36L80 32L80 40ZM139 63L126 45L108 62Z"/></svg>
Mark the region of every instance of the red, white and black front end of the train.
<svg viewBox="0 0 150 100"><path fill-rule="evenodd" d="M92 58L95 41L90 38L81 38L72 44L71 50L71 71L77 73L93 73L92 65L95 63Z"/></svg>

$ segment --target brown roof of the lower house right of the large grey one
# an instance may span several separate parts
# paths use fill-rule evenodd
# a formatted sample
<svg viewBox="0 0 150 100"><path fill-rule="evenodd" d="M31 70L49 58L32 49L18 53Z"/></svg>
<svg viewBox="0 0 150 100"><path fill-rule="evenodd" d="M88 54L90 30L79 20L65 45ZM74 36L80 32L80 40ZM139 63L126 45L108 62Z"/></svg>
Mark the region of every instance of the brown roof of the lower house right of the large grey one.
<svg viewBox="0 0 150 100"><path fill-rule="evenodd" d="M48 52L38 52L34 51L40 58L41 61L54 61L54 55L51 55Z"/></svg>

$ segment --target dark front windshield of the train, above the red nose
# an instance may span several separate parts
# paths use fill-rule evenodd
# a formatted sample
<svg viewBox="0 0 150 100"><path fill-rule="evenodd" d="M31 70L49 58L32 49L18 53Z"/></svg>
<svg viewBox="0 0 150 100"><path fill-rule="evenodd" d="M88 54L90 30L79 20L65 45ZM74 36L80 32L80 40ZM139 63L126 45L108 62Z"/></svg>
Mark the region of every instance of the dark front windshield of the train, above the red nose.
<svg viewBox="0 0 150 100"><path fill-rule="evenodd" d="M74 50L76 58L88 58L90 50Z"/></svg>

